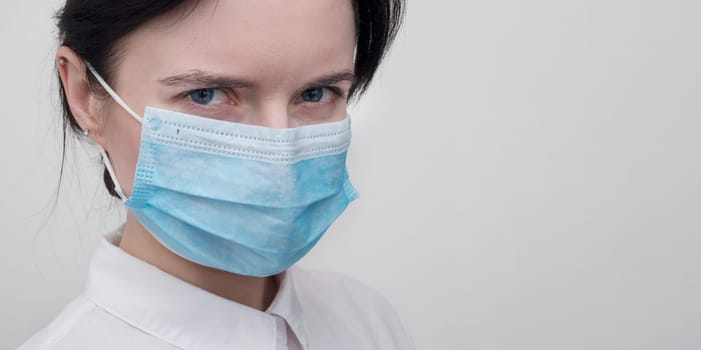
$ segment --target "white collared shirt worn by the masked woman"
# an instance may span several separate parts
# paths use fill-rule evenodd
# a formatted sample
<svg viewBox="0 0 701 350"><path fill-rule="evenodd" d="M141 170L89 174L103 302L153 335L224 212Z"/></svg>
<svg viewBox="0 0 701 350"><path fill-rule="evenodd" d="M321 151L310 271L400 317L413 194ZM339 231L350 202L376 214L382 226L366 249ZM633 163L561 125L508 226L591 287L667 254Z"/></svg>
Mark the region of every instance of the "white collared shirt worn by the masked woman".
<svg viewBox="0 0 701 350"><path fill-rule="evenodd" d="M413 349L389 303L330 272L291 268L265 311L221 298L100 242L85 291L20 350Z"/></svg>

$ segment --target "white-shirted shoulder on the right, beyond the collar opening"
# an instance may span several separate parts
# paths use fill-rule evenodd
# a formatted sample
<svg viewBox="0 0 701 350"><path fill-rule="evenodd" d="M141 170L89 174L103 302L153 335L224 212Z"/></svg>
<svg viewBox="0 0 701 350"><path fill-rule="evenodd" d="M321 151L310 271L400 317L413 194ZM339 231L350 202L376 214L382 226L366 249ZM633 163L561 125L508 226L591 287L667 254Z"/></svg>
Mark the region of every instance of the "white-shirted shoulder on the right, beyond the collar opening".
<svg viewBox="0 0 701 350"><path fill-rule="evenodd" d="M364 349L413 349L404 324L380 292L349 276L294 269L295 289L309 333L337 333ZM342 334L338 334L342 333Z"/></svg>

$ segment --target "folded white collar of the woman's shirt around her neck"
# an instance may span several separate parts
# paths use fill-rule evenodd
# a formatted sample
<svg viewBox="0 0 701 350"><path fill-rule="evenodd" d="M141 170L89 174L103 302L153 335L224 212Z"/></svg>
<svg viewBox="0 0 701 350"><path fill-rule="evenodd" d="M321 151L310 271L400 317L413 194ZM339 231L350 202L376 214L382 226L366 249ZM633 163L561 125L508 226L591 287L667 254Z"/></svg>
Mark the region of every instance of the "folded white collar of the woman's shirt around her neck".
<svg viewBox="0 0 701 350"><path fill-rule="evenodd" d="M280 318L307 348L295 269L279 275L270 307L259 311L209 293L137 259L105 236L90 264L85 295L132 326L181 348L266 348L287 342ZM277 316L277 317L276 317ZM278 318L279 317L279 318Z"/></svg>

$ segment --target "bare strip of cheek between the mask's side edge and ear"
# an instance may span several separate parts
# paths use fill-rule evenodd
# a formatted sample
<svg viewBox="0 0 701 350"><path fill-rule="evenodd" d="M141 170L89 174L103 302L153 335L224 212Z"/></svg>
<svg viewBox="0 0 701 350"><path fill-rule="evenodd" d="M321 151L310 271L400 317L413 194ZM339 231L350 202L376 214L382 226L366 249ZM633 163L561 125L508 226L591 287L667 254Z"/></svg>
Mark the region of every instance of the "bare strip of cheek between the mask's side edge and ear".
<svg viewBox="0 0 701 350"><path fill-rule="evenodd" d="M141 124L126 112L115 110L109 113L105 119L104 135L106 150L109 153L119 184L122 186L124 194L129 197L139 157Z"/></svg>

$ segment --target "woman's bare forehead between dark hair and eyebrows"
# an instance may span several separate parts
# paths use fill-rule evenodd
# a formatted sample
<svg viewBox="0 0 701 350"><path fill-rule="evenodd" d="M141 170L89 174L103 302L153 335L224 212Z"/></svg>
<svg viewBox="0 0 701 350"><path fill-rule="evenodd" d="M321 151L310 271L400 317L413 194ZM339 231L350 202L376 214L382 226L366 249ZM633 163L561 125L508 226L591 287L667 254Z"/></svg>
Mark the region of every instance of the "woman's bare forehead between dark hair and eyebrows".
<svg viewBox="0 0 701 350"><path fill-rule="evenodd" d="M203 0L193 6L129 35L120 66L140 77L200 69L276 81L353 68L351 0Z"/></svg>

